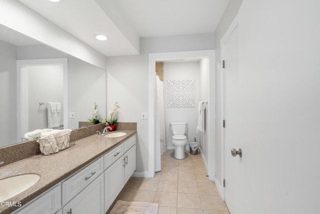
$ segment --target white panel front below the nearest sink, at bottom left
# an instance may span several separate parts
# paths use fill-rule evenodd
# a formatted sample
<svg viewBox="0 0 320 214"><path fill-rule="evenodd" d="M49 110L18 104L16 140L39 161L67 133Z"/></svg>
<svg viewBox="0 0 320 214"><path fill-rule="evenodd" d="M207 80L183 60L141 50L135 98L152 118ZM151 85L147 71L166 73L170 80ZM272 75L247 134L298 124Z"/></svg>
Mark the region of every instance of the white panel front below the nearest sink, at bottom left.
<svg viewBox="0 0 320 214"><path fill-rule="evenodd" d="M61 207L61 186L58 185L34 202L17 212L17 214L53 214Z"/></svg>

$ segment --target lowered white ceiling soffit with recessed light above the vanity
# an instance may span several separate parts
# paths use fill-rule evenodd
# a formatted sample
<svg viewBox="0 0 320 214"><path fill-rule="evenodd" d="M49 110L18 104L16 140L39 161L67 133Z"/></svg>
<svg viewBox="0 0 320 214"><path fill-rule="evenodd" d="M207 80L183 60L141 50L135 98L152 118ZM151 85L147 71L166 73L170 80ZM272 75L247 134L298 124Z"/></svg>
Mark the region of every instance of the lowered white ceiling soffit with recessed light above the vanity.
<svg viewBox="0 0 320 214"><path fill-rule="evenodd" d="M105 56L137 55L139 50L125 38L94 0L18 0L47 20ZM98 41L95 34L109 40Z"/></svg>

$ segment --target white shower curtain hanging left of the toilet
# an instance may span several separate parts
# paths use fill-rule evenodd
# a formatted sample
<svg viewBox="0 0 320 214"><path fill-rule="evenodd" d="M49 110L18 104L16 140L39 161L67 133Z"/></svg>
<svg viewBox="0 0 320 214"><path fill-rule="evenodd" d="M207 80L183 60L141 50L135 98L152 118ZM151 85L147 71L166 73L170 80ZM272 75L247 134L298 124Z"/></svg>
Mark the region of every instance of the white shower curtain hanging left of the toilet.
<svg viewBox="0 0 320 214"><path fill-rule="evenodd" d="M165 121L163 102L163 82L156 75L155 93L155 171L161 169L161 158L165 149Z"/></svg>

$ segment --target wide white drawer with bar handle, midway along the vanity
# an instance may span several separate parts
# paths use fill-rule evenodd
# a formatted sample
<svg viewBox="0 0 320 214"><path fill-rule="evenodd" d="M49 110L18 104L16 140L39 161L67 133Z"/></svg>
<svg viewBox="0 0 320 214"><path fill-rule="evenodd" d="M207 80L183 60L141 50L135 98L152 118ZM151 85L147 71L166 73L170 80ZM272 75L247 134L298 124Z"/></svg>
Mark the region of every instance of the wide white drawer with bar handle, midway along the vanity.
<svg viewBox="0 0 320 214"><path fill-rule="evenodd" d="M62 204L64 205L85 186L103 172L103 158L100 157L62 183Z"/></svg>

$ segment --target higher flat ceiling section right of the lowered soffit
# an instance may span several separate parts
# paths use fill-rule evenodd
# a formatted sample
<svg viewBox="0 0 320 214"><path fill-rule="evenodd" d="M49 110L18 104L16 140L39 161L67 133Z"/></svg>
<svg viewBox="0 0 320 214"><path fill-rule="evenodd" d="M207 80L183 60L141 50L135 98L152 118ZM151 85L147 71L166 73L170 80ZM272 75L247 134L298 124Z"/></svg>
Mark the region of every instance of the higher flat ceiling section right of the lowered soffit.
<svg viewBox="0 0 320 214"><path fill-rule="evenodd" d="M228 0L97 0L115 2L140 37L214 33Z"/></svg>

